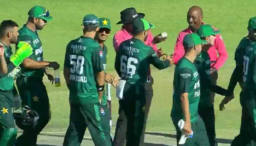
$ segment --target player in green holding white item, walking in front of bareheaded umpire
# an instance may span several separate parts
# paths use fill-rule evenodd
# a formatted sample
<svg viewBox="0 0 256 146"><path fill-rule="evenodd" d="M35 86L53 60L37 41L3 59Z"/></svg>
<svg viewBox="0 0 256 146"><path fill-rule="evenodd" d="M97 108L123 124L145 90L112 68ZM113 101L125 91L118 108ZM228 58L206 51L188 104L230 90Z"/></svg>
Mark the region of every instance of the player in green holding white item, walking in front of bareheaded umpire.
<svg viewBox="0 0 256 146"><path fill-rule="evenodd" d="M182 133L193 135L188 138L184 146L210 146L204 122L198 116L200 99L200 80L194 61L201 53L202 44L206 44L196 33L187 34L183 39L185 55L175 67L173 81L173 105L171 117L177 133L177 145ZM180 130L178 122L185 124Z"/></svg>

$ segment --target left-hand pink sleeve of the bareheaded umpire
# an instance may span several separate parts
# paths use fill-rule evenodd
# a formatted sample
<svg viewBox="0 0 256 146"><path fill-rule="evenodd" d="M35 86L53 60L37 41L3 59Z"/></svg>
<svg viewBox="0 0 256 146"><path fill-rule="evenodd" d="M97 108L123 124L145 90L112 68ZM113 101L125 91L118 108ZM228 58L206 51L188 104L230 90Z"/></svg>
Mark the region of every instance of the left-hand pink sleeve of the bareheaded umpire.
<svg viewBox="0 0 256 146"><path fill-rule="evenodd" d="M173 53L173 61L174 64L178 64L178 61L184 56L185 51L184 47L182 45L183 37L182 34L180 33L178 35L175 47L174 47L174 53Z"/></svg>

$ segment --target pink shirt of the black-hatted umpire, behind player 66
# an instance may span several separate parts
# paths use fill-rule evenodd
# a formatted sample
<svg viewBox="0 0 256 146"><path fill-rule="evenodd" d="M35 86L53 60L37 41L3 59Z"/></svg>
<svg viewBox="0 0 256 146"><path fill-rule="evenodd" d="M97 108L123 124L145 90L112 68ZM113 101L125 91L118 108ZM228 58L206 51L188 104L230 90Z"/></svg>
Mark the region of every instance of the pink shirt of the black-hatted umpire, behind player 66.
<svg viewBox="0 0 256 146"><path fill-rule="evenodd" d="M127 39L131 39L132 37L133 36L130 35L124 28L117 31L113 38L113 46L114 46L115 51L118 50L118 47L121 42L123 42ZM151 31L149 30L147 40L144 43L145 43L145 45L151 46L157 52L157 44L152 43L153 39L154 39L154 37L153 37Z"/></svg>

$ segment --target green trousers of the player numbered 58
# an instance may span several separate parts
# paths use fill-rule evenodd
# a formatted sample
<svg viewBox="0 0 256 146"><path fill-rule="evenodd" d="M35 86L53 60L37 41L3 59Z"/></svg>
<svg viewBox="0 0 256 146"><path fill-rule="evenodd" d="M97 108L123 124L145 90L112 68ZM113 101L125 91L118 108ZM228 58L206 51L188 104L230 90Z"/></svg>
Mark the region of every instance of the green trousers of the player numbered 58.
<svg viewBox="0 0 256 146"><path fill-rule="evenodd" d="M98 104L70 104L69 126L63 146L80 146L87 127L94 145L106 146Z"/></svg>

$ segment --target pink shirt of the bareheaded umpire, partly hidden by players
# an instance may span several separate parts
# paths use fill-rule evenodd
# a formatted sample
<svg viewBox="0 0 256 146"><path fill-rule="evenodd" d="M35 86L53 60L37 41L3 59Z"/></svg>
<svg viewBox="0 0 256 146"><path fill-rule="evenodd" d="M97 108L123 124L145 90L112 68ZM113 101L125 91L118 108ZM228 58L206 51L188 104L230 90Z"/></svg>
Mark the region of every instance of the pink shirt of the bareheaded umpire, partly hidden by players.
<svg viewBox="0 0 256 146"><path fill-rule="evenodd" d="M179 33L173 53L174 64L177 64L178 61L184 56L185 51L182 45L183 38L185 37L185 35L191 33L192 31L189 28L182 30ZM219 54L219 57L217 56L216 50ZM214 61L213 63L211 63L211 68L216 68L217 70L219 70L219 68L224 65L228 57L227 50L224 42L222 41L221 35L216 35L214 46L210 47L210 49L208 50L208 54L210 56L210 60Z"/></svg>

